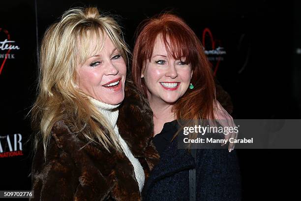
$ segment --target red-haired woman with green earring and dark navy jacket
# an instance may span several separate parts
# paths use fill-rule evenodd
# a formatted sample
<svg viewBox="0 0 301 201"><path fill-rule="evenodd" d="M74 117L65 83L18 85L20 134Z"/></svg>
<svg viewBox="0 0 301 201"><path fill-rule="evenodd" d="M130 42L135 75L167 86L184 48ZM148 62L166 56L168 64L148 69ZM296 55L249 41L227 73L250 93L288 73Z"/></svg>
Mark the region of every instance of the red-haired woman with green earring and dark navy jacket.
<svg viewBox="0 0 301 201"><path fill-rule="evenodd" d="M214 78L200 40L172 14L144 21L137 33L132 76L153 111L152 141L161 156L145 184L144 200L188 201L194 194L202 201L240 200L235 151L198 149L194 160L187 149L178 149L174 137L177 120L218 119L215 109L223 109L215 100ZM189 183L189 174L196 175L194 183Z"/></svg>

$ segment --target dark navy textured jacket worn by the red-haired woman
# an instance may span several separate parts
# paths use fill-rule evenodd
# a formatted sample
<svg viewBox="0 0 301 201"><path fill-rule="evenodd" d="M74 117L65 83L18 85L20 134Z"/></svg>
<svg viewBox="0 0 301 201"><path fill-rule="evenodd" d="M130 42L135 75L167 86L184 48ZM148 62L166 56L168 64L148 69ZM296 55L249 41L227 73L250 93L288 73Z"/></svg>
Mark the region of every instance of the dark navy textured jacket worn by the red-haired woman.
<svg viewBox="0 0 301 201"><path fill-rule="evenodd" d="M228 146L228 144L224 145ZM177 137L162 152L145 183L143 201L189 201L189 169L196 167L197 201L240 201L241 178L236 151L197 149L197 161L178 149Z"/></svg>

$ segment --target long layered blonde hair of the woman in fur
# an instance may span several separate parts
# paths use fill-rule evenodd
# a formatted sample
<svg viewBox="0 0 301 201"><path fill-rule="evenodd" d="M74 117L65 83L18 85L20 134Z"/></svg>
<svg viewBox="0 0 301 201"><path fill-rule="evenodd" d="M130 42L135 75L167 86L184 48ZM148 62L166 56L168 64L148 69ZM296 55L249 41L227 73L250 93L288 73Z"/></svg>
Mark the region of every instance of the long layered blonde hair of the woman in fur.
<svg viewBox="0 0 301 201"><path fill-rule="evenodd" d="M60 120L94 142L120 150L113 128L89 100L89 95L76 85L77 65L85 62L94 51L101 51L107 34L121 56L128 62L126 43L119 25L109 16L100 15L96 7L72 8L44 34L40 49L37 99L31 108L34 150L43 141L44 156L54 124ZM90 40L96 35L95 48ZM80 48L78 47L80 45ZM89 128L89 129L88 129Z"/></svg>

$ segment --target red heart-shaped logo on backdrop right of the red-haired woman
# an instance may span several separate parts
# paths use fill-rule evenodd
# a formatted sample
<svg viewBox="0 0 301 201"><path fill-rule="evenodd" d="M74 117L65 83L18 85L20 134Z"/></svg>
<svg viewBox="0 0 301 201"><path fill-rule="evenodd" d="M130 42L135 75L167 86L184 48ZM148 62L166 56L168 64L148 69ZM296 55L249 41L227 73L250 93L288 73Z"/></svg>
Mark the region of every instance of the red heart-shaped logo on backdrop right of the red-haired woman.
<svg viewBox="0 0 301 201"><path fill-rule="evenodd" d="M220 62L224 60L224 55L226 55L226 51L222 47L221 41L219 39L213 38L213 35L209 28L204 29L202 38L204 52L207 55L208 60L212 64L215 75L220 65Z"/></svg>

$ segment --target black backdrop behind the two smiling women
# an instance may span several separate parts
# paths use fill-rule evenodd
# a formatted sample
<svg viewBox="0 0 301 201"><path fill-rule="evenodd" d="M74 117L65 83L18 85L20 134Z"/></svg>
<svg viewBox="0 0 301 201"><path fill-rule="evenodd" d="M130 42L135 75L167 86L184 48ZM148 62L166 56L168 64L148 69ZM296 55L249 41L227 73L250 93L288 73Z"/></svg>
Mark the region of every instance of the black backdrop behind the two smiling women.
<svg viewBox="0 0 301 201"><path fill-rule="evenodd" d="M0 28L9 31L20 50L11 51L15 59L7 59L0 74L0 135L22 134L24 155L0 158L0 190L30 190L31 147L26 141L31 130L26 115L36 93L37 46L46 28L65 10L85 5L118 15L131 48L139 23L165 10L180 15L201 41L209 28L216 44L227 52L216 77L232 97L234 118L301 119L301 3L297 0L4 1ZM0 41L4 39L0 32ZM208 41L206 49L211 46ZM287 200L297 195L300 149L237 152L243 200Z"/></svg>

